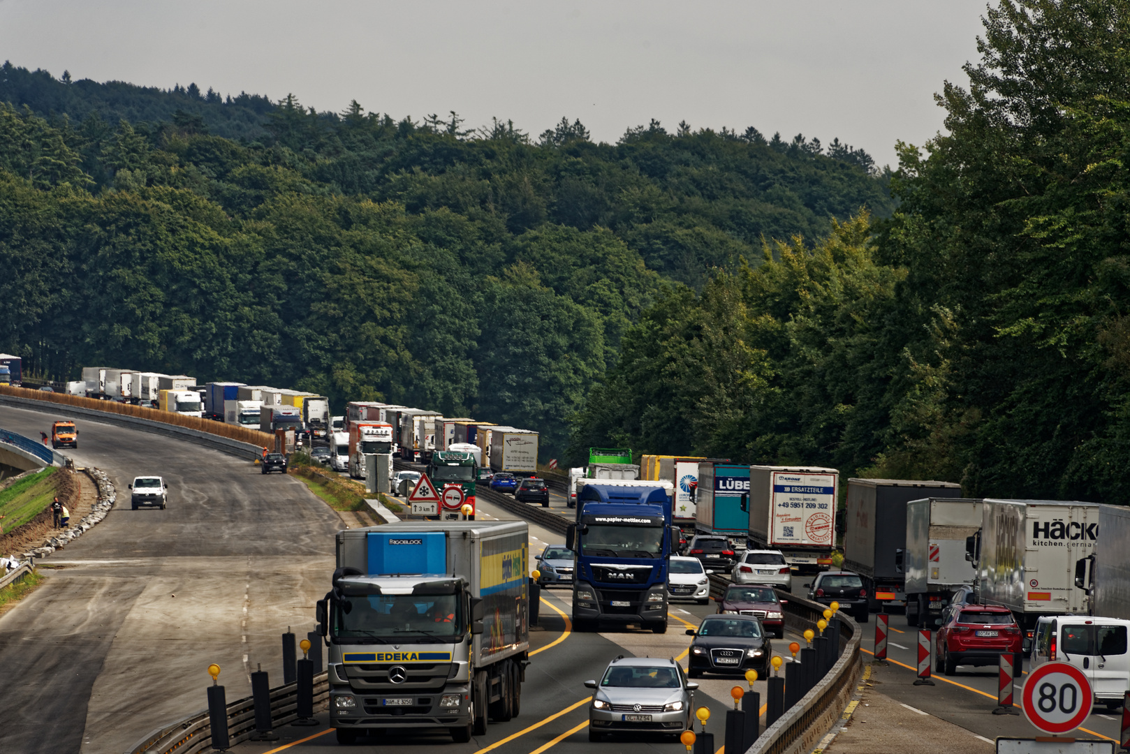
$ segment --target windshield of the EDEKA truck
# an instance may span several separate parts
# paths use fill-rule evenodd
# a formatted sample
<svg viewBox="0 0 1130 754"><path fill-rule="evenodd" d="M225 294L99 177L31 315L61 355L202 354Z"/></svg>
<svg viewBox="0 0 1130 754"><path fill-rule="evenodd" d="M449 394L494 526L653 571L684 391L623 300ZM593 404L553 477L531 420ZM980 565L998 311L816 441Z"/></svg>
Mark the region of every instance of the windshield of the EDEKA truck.
<svg viewBox="0 0 1130 754"><path fill-rule="evenodd" d="M458 595L370 595L346 598L333 629L344 639L399 640L412 634L452 639L463 634L461 619Z"/></svg>

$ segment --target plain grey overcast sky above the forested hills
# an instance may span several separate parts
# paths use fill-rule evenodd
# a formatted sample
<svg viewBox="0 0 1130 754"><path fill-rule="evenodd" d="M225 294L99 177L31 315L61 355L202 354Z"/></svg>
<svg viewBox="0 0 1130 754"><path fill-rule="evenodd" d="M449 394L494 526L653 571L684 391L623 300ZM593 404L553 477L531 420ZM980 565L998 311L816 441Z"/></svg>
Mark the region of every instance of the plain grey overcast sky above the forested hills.
<svg viewBox="0 0 1130 754"><path fill-rule="evenodd" d="M615 141L756 125L840 137L895 164L941 128L933 94L966 84L985 0L776 2L0 0L0 58L54 76L394 118L454 110L537 136L563 115Z"/></svg>

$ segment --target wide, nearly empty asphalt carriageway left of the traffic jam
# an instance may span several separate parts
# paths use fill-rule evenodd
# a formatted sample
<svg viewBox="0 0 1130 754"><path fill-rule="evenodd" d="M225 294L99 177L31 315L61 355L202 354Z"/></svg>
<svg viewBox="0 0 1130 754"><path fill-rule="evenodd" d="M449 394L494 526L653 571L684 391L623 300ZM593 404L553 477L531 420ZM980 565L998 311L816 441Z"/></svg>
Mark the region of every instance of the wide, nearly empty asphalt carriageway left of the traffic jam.
<svg viewBox="0 0 1130 754"><path fill-rule="evenodd" d="M64 410L0 406L38 437ZM42 563L47 580L0 617L0 754L121 754L207 705L210 662L228 699L262 664L281 683L280 634L313 629L338 515L304 485L184 440L76 419L78 466L118 503ZM163 475L168 508L130 510L134 476Z"/></svg>

